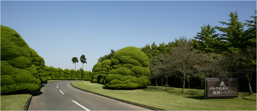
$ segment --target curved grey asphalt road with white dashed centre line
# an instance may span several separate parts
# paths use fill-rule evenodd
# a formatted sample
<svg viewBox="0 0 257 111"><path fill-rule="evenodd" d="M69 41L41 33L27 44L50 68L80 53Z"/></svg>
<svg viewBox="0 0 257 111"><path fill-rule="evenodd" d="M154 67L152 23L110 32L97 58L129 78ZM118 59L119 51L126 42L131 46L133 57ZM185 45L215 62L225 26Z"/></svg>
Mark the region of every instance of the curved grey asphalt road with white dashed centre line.
<svg viewBox="0 0 257 111"><path fill-rule="evenodd" d="M79 90L71 82L44 84L33 94L28 110L149 110Z"/></svg>

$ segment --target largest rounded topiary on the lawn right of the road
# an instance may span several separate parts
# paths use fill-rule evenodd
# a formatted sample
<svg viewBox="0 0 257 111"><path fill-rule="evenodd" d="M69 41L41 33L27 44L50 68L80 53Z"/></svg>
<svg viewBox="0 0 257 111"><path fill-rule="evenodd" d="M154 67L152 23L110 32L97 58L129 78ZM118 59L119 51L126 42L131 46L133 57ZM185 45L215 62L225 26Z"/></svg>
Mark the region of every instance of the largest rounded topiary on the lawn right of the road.
<svg viewBox="0 0 257 111"><path fill-rule="evenodd" d="M111 60L111 71L105 86L113 89L135 89L150 85L149 59L136 47L117 51Z"/></svg>

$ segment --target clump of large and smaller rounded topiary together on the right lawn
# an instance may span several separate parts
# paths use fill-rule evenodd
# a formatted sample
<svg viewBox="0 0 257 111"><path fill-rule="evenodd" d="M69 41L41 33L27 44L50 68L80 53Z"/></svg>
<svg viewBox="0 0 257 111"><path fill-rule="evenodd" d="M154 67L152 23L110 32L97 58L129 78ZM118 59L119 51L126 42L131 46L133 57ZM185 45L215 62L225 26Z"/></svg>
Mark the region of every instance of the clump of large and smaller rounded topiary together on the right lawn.
<svg viewBox="0 0 257 111"><path fill-rule="evenodd" d="M135 89L150 85L149 59L140 49L125 47L117 52L111 50L108 55L98 59L99 62L92 69L94 74L91 82L100 82L113 89Z"/></svg>

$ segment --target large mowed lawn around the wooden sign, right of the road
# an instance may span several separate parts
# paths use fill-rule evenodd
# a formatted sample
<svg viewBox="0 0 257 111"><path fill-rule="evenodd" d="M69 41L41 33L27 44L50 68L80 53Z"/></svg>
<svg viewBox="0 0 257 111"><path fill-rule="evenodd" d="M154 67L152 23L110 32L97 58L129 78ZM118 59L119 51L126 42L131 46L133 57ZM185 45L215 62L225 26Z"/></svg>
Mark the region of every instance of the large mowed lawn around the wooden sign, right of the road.
<svg viewBox="0 0 257 111"><path fill-rule="evenodd" d="M161 110L257 110L256 93L239 93L238 98L205 99L204 90L148 86L137 90L110 90L103 84L75 81L76 87Z"/></svg>

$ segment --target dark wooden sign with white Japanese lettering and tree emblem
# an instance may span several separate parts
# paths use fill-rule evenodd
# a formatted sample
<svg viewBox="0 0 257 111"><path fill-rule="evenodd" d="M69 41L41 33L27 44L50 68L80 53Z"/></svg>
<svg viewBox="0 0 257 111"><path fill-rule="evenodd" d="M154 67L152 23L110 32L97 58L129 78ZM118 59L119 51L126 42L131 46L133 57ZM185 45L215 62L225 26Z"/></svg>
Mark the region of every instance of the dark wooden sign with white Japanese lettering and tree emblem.
<svg viewBox="0 0 257 111"><path fill-rule="evenodd" d="M205 98L238 98L237 78L204 78Z"/></svg>

